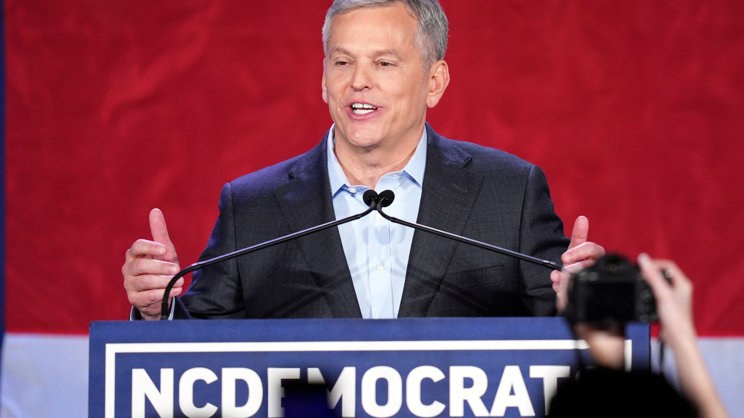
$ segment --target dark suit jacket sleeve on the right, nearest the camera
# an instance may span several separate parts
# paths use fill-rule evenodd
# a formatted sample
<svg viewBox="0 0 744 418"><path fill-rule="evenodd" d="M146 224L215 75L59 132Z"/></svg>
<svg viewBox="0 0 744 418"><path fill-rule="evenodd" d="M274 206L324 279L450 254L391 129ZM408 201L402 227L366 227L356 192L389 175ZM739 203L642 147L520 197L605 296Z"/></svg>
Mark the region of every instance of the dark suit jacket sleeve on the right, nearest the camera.
<svg viewBox="0 0 744 418"><path fill-rule="evenodd" d="M559 262L570 239L563 234L563 222L554 211L548 181L540 167L533 165L525 187L522 220L519 228L519 252L542 260ZM519 260L520 293L533 315L555 315L556 294L551 271Z"/></svg>

